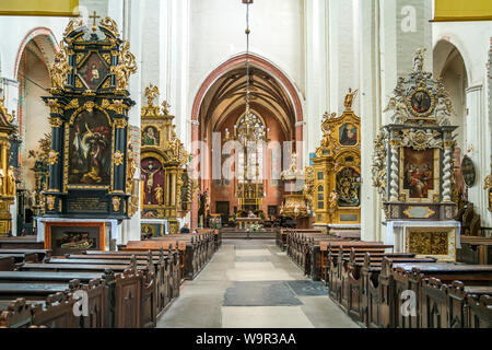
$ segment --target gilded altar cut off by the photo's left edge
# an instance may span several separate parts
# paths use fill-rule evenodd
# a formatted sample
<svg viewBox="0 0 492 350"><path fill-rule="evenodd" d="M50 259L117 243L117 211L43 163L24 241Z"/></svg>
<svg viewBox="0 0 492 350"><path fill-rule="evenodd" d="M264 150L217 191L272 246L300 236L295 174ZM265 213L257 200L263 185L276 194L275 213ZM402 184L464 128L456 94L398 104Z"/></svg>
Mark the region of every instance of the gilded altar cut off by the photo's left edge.
<svg viewBox="0 0 492 350"><path fill-rule="evenodd" d="M9 165L10 139L16 131L12 121L4 98L0 98L0 236L7 236L12 231L10 206L14 202L16 191L14 168Z"/></svg>

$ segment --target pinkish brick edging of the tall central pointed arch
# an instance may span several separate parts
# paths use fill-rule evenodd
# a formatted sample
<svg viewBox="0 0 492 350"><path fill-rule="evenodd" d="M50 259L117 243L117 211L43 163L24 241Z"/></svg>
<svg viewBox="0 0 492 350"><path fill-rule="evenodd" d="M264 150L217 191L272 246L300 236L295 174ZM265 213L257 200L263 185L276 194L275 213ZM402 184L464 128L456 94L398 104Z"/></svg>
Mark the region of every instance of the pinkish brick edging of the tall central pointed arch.
<svg viewBox="0 0 492 350"><path fill-rule="evenodd" d="M285 89L286 93L289 94L292 105L294 106L295 110L295 133L296 133L296 140L301 141L303 139L303 132L302 132L302 121L304 120L304 114L303 114L303 107L302 102L300 98L300 94L292 83L291 79L277 66L268 61L267 59L249 54L248 57L246 54L242 54L238 56L235 56L227 61L220 65L218 68L215 68L203 81L203 83L198 89L197 94L195 95L192 108L191 108L191 120L194 125L197 125L198 122L198 115L200 113L200 106L201 103L209 91L209 89L213 85L213 83L222 77L224 73L230 71L233 68L236 68L243 63L246 62L246 58L248 58L249 62L256 67L261 68L262 70L270 73L274 79L277 79L278 82ZM196 141L198 140L198 133L191 132L191 140Z"/></svg>

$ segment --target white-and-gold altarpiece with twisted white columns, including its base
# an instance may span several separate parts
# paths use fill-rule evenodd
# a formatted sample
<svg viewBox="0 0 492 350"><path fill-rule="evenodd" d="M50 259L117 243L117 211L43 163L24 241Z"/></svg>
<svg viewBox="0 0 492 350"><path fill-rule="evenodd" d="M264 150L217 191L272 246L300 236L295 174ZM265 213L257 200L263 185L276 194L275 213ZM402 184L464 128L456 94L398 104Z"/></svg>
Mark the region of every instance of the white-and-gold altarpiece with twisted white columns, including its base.
<svg viewBox="0 0 492 350"><path fill-rule="evenodd" d="M399 78L384 112L390 124L376 138L373 183L383 197L387 242L396 252L456 259L459 223L453 220L455 139L452 101L443 82L423 70L418 49L413 70Z"/></svg>

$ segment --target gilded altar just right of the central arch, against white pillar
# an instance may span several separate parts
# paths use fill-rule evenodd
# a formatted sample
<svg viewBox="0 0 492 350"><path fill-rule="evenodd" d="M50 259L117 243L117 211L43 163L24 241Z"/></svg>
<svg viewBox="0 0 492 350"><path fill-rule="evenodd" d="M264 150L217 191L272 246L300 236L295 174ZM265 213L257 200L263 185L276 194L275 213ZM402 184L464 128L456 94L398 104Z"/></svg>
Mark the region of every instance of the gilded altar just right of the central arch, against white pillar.
<svg viewBox="0 0 492 350"><path fill-rule="evenodd" d="M356 92L349 89L341 116L325 114L321 143L306 168L304 194L318 225L361 222L361 120L352 110Z"/></svg>

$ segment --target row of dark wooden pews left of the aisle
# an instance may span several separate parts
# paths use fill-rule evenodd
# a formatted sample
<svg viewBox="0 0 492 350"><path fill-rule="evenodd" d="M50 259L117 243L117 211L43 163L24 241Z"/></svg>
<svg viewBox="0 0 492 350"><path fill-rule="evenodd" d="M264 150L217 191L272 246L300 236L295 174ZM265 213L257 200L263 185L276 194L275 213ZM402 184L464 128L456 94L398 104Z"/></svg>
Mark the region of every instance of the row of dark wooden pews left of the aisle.
<svg viewBox="0 0 492 350"><path fill-rule="evenodd" d="M55 257L45 250L32 259L34 252L24 249L28 258L21 261L16 249L0 258L0 327L155 327L183 281L196 277L220 244L206 230L129 242L118 252Z"/></svg>

